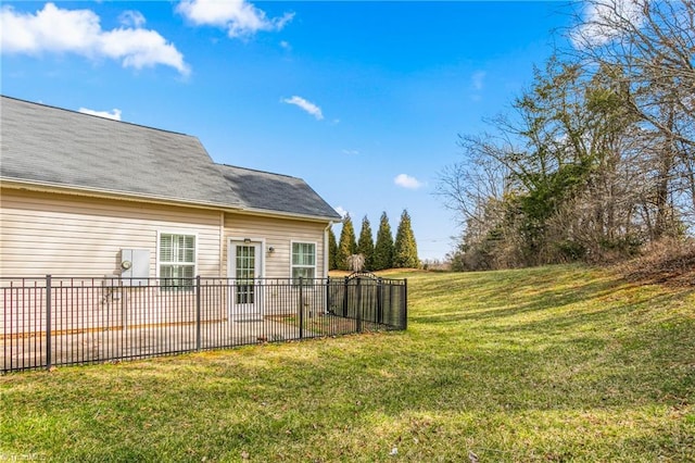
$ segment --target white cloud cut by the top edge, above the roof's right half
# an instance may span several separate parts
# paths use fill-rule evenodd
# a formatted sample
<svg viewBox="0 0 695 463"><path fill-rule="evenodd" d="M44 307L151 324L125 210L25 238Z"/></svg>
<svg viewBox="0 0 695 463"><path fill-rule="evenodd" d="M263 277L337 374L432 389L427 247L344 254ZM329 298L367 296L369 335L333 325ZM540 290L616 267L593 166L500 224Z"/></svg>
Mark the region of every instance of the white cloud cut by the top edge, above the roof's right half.
<svg viewBox="0 0 695 463"><path fill-rule="evenodd" d="M176 11L195 25L216 26L229 37L253 35L258 30L280 30L292 21L294 13L268 18L263 10L245 0L182 0Z"/></svg>

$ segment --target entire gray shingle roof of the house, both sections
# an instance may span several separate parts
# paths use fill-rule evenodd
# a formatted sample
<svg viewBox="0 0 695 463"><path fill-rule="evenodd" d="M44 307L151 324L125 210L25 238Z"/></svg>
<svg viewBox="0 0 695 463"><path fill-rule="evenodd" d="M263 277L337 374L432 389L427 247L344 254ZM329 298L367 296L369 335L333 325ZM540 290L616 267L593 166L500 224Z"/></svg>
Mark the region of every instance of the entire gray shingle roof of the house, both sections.
<svg viewBox="0 0 695 463"><path fill-rule="evenodd" d="M4 96L0 114L3 179L339 217L303 180L220 167L189 135Z"/></svg>

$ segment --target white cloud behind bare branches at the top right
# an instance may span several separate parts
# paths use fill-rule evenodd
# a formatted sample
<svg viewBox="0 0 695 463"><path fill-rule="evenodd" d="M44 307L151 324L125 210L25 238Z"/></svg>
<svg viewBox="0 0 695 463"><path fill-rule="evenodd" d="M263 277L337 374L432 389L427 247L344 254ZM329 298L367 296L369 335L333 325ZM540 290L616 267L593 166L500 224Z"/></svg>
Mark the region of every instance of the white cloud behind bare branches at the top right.
<svg viewBox="0 0 695 463"><path fill-rule="evenodd" d="M584 24L570 33L570 40L577 49L606 45L618 38L621 29L616 28L616 24L632 23L640 27L644 23L641 8L633 0L590 3L585 7L583 16Z"/></svg>

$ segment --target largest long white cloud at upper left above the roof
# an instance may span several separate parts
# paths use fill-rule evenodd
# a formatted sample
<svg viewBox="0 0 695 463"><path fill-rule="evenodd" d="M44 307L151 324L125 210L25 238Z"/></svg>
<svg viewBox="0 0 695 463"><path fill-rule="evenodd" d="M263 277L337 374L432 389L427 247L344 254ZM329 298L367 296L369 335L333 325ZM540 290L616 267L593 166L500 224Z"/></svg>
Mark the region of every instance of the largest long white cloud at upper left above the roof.
<svg viewBox="0 0 695 463"><path fill-rule="evenodd" d="M188 75L184 55L155 30L139 28L144 17L126 12L121 17L134 27L102 30L99 16L91 10L63 10L46 3L43 10L15 13L12 7L0 10L2 53L75 53L88 59L119 60L124 67L172 66Z"/></svg>

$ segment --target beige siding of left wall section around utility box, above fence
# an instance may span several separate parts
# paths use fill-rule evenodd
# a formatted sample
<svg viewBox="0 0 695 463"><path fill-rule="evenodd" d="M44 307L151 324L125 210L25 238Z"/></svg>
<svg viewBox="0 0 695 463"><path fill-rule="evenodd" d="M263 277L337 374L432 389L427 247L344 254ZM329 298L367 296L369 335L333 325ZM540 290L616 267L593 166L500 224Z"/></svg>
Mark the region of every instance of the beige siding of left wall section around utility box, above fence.
<svg viewBox="0 0 695 463"><path fill-rule="evenodd" d="M195 235L195 273L222 275L219 212L2 188L1 276L121 274L122 249L150 251L157 276L157 232Z"/></svg>

